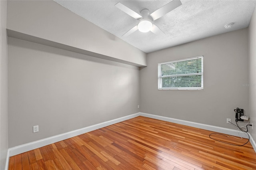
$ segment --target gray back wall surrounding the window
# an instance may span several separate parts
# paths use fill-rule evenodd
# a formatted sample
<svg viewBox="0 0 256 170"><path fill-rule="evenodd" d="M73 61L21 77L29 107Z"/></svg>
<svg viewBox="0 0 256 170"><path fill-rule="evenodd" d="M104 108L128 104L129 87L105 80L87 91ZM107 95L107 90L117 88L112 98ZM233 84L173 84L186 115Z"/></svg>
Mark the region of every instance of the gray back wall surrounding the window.
<svg viewBox="0 0 256 170"><path fill-rule="evenodd" d="M236 107L248 115L247 29L148 54L140 70L140 111L218 127L234 128ZM158 91L157 64L204 55L203 91ZM242 125L242 124L241 124Z"/></svg>

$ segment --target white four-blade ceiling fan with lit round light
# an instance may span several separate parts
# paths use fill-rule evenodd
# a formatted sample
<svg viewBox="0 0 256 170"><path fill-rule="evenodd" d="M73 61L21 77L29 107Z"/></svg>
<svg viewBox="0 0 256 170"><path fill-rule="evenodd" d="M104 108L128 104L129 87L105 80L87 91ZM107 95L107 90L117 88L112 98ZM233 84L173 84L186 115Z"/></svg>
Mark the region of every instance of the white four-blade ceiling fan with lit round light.
<svg viewBox="0 0 256 170"><path fill-rule="evenodd" d="M134 26L132 29L130 29L128 32L126 32L122 36L129 36L130 34L132 34L133 32L135 32L137 30L139 30L140 32L149 32L149 31L151 31L154 34L164 34L164 32L162 32L162 30L160 30L160 28L158 28L152 22L154 20L164 16L168 12L174 10L175 8L180 6L181 4L182 3L180 2L180 0L172 0L168 4L162 6L158 10L152 12L151 14L150 14L148 9L144 9L140 12L140 14L138 14L138 13L134 12L133 10L131 10L130 8L128 8L127 6L124 6L123 4L118 2L115 5L117 8L119 8L120 10L125 12L126 14L130 15L131 17L139 20L138 25Z"/></svg>

